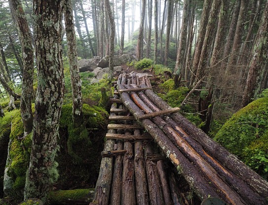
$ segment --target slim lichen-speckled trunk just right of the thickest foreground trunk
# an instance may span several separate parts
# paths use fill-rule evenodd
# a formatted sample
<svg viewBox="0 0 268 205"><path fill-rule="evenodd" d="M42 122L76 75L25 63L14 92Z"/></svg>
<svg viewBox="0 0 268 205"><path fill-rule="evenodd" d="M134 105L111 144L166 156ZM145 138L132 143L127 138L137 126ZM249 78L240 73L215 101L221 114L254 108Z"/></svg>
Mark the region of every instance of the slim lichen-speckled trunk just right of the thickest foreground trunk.
<svg viewBox="0 0 268 205"><path fill-rule="evenodd" d="M72 90L72 120L75 127L79 127L83 123L82 115L82 82L80 80L79 68L77 65L77 48L76 37L73 24L73 15L71 0L65 0L65 27L67 35L68 56L71 76L71 90Z"/></svg>

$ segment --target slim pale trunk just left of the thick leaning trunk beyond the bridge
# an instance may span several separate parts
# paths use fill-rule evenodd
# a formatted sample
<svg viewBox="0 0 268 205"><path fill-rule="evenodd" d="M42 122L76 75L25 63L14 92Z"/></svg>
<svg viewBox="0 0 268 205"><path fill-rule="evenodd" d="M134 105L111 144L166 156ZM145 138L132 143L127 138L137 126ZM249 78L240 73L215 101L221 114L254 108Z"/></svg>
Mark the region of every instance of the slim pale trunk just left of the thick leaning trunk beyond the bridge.
<svg viewBox="0 0 268 205"><path fill-rule="evenodd" d="M164 64L167 66L168 63L168 51L169 51L169 39L170 39L170 30L171 30L171 23L172 23L172 13L173 13L173 0L168 0L168 9L167 9L167 34L166 34L166 47L165 47L165 58Z"/></svg>

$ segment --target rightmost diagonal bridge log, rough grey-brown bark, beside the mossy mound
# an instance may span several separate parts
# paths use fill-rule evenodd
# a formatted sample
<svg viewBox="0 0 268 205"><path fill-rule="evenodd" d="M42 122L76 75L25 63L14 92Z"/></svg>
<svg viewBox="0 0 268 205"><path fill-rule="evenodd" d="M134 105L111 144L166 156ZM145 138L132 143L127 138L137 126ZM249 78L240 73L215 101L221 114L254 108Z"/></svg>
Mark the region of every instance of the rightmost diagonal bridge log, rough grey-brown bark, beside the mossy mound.
<svg viewBox="0 0 268 205"><path fill-rule="evenodd" d="M167 102L164 102L158 97L153 91L145 90L146 96L161 109L168 109L170 106ZM268 182L265 181L255 171L247 167L243 162L237 159L237 157L231 154L223 146L215 142L213 139L208 137L201 129L193 125L189 120L178 113L172 114L172 119L180 126L189 136L197 140L204 150L213 156L219 163L228 168L234 174L239 176L246 182L255 192L260 196L268 199ZM250 177L245 177L250 176ZM268 201L267 201L268 203Z"/></svg>

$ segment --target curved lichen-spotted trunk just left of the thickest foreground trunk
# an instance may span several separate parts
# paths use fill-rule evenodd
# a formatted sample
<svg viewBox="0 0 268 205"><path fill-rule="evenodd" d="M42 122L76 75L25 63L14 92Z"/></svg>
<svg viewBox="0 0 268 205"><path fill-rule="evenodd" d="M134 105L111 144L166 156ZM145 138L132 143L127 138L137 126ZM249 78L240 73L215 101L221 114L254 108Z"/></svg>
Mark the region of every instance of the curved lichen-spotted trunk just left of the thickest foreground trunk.
<svg viewBox="0 0 268 205"><path fill-rule="evenodd" d="M24 126L24 137L33 129L33 45L30 28L23 10L21 0L9 0L13 18L15 19L22 49L23 76L21 92L21 116Z"/></svg>

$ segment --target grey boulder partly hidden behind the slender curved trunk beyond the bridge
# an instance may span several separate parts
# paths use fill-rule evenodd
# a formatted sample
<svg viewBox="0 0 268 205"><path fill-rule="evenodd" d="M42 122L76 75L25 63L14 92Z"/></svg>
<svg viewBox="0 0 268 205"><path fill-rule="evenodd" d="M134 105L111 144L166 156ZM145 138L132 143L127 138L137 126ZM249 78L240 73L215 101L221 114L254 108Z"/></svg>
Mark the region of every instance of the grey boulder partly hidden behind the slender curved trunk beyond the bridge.
<svg viewBox="0 0 268 205"><path fill-rule="evenodd" d="M123 54L122 56L115 55L113 64L114 66L121 66L127 64L128 62L132 62L134 59L134 56L131 54ZM104 56L97 64L97 66L101 68L109 67L109 56Z"/></svg>

